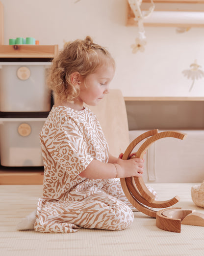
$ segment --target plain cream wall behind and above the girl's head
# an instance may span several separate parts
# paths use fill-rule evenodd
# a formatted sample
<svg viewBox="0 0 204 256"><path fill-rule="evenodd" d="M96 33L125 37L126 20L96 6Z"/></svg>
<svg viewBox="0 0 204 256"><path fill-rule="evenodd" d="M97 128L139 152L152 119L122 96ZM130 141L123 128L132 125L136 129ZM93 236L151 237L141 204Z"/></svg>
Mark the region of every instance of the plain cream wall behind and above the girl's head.
<svg viewBox="0 0 204 256"><path fill-rule="evenodd" d="M126 0L1 0L4 44L9 38L32 36L40 44L58 44L91 35L115 58L111 87L124 96L204 96L204 77L181 73L197 59L204 69L204 28L177 33L176 28L146 28L144 53L132 54L136 27L126 27Z"/></svg>

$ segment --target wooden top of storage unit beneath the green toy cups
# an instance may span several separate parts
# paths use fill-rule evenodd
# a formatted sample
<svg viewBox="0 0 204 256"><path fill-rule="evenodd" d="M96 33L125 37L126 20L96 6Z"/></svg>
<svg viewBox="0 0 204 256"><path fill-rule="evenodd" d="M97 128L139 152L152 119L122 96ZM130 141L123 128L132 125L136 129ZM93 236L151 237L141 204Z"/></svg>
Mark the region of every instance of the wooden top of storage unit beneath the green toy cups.
<svg viewBox="0 0 204 256"><path fill-rule="evenodd" d="M0 45L0 58L54 58L58 45Z"/></svg>

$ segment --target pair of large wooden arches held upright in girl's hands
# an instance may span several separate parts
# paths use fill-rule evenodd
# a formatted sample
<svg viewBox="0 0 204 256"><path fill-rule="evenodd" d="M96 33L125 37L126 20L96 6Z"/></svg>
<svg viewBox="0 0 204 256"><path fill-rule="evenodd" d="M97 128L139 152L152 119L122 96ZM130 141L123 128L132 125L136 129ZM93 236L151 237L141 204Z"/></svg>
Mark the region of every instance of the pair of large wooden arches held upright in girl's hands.
<svg viewBox="0 0 204 256"><path fill-rule="evenodd" d="M163 131L159 133L158 129L147 131L138 136L129 144L122 159L127 160L133 148L145 138L150 137L140 146L136 153L136 158L143 158L147 149L153 144L154 141L158 139L174 137L183 140L186 136L187 134L178 131ZM172 206L179 201L178 196L175 196L167 201L155 200L155 196L148 190L142 177L121 178L121 186L130 203L139 211L153 218L156 218L157 211L154 211L149 207L165 208Z"/></svg>

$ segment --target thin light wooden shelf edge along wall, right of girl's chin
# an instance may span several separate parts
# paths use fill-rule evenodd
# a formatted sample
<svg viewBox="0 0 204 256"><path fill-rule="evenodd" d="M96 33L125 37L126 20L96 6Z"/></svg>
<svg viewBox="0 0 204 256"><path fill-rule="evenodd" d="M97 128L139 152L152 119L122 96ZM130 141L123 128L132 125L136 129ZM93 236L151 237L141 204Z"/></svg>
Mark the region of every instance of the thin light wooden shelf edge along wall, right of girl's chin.
<svg viewBox="0 0 204 256"><path fill-rule="evenodd" d="M124 97L125 101L204 101L204 97Z"/></svg>

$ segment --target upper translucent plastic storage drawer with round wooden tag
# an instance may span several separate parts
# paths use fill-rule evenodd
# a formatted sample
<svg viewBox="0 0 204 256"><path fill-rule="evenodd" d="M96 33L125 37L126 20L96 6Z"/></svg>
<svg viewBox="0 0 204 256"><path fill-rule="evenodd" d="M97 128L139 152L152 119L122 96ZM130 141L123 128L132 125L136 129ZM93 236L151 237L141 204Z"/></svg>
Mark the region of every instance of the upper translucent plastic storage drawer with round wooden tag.
<svg viewBox="0 0 204 256"><path fill-rule="evenodd" d="M0 111L47 112L51 92L46 85L49 62L0 63Z"/></svg>

